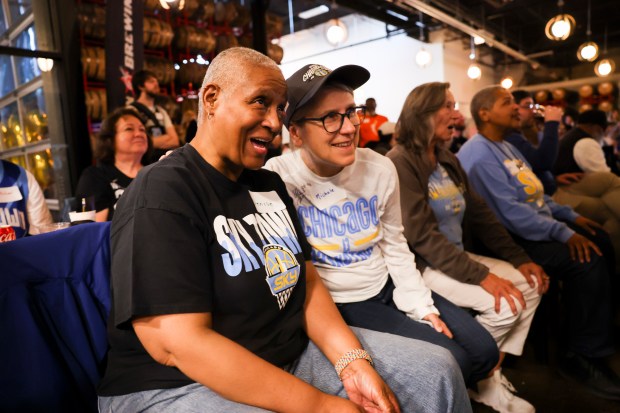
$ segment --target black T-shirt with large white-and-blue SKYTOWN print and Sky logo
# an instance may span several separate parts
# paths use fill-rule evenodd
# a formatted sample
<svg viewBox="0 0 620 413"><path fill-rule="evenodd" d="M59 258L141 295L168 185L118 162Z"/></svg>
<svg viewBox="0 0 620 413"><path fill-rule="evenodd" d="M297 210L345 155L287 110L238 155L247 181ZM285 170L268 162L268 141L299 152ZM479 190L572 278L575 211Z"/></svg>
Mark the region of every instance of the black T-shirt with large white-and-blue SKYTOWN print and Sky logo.
<svg viewBox="0 0 620 413"><path fill-rule="evenodd" d="M138 174L117 204L111 242L111 348L99 394L192 382L147 354L135 317L210 312L215 331L279 366L307 345L310 248L277 174L245 171L233 182L186 145Z"/></svg>

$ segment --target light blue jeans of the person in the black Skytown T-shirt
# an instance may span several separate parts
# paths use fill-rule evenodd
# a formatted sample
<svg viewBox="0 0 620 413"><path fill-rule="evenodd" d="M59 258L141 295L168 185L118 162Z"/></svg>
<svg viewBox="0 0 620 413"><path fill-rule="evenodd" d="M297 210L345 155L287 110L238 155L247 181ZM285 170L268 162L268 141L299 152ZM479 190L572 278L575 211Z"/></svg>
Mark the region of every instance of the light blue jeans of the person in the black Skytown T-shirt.
<svg viewBox="0 0 620 413"><path fill-rule="evenodd" d="M471 405L458 365L445 349L391 334L353 331L373 356L375 368L396 394L402 412L467 413ZM334 366L312 343L290 372L325 393L346 397ZM312 411L312 406L300 406ZM176 389L99 397L100 413L257 413L265 410L224 399L195 383Z"/></svg>

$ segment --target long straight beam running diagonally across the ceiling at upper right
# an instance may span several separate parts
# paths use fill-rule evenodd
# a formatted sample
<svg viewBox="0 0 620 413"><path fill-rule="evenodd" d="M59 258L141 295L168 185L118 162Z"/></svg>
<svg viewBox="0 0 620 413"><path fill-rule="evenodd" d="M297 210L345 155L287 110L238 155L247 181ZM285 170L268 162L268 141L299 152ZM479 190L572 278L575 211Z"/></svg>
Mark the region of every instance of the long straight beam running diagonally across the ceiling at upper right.
<svg viewBox="0 0 620 413"><path fill-rule="evenodd" d="M486 33L485 31L475 29L472 26L466 23L463 23L462 21L457 20L454 17L444 13L443 11L436 9L433 6L429 6L423 0L388 0L388 1L396 5L407 5L407 6L413 7L421 11L422 13L428 16L431 16L449 26L452 26L453 28L460 30L463 33L466 33L470 36L480 36L486 41L486 43L489 46L494 47L498 50L501 50L502 52L514 57L515 59L528 63L533 69L538 69L540 67L540 63L537 62L536 60L533 60L527 57L523 53L519 52L518 50L513 49L510 46L507 46L501 42L498 42L496 39L489 36L489 34Z"/></svg>

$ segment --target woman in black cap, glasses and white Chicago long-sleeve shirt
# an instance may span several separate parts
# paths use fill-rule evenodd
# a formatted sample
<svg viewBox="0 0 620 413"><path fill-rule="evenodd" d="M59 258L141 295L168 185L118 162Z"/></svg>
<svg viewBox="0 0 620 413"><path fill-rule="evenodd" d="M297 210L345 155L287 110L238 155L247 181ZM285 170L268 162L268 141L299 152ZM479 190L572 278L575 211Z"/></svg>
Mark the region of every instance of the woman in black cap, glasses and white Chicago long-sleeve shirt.
<svg viewBox="0 0 620 413"><path fill-rule="evenodd" d="M296 150L266 167L286 183L312 261L345 321L442 346L465 382L475 383L497 363L495 342L424 284L402 234L396 170L357 148L365 108L353 90L369 77L355 65L307 65L289 77L284 124Z"/></svg>

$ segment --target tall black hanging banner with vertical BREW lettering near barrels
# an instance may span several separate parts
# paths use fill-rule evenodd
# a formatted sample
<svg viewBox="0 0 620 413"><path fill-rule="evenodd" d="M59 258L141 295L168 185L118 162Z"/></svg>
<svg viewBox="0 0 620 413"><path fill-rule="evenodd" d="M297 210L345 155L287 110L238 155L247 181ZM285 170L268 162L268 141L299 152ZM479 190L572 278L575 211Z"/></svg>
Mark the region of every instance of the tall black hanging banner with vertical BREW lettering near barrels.
<svg viewBox="0 0 620 413"><path fill-rule="evenodd" d="M142 69L144 0L108 0L105 83L108 112L133 101L131 76Z"/></svg>

